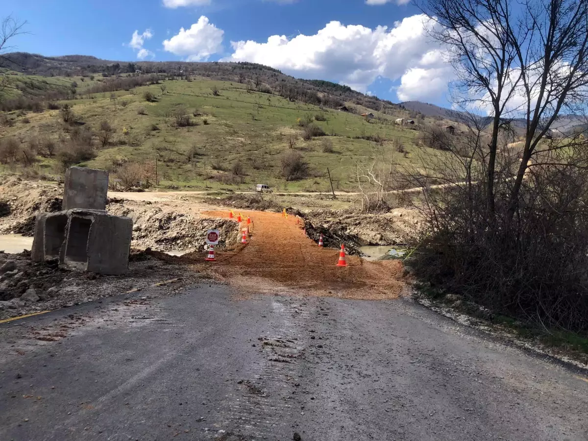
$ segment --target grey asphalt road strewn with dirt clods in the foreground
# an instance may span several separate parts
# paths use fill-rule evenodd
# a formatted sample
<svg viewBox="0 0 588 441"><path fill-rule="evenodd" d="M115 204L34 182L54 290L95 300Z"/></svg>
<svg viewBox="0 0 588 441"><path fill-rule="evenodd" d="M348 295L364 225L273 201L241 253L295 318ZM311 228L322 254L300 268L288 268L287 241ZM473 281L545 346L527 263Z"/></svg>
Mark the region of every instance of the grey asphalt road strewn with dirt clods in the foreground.
<svg viewBox="0 0 588 441"><path fill-rule="evenodd" d="M0 325L0 440L588 439L582 373L410 300L134 299Z"/></svg>

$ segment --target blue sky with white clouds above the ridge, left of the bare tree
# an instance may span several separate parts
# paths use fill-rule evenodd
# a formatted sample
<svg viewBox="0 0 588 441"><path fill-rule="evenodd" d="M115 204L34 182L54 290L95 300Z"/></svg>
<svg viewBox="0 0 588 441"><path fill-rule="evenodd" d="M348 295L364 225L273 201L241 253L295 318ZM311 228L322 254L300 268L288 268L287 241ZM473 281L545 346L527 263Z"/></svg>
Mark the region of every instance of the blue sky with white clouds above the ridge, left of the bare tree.
<svg viewBox="0 0 588 441"><path fill-rule="evenodd" d="M446 105L452 72L406 1L2 0L2 15L28 22L30 34L11 42L18 51L261 62L395 102Z"/></svg>

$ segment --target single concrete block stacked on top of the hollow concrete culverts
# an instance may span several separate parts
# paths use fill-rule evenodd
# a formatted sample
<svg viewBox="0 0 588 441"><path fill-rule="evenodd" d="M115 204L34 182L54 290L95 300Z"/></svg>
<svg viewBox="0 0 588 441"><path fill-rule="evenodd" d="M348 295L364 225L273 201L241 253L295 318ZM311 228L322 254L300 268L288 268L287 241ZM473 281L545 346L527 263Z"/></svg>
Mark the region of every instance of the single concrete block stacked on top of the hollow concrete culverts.
<svg viewBox="0 0 588 441"><path fill-rule="evenodd" d="M65 172L63 209L105 210L108 172L71 167Z"/></svg>

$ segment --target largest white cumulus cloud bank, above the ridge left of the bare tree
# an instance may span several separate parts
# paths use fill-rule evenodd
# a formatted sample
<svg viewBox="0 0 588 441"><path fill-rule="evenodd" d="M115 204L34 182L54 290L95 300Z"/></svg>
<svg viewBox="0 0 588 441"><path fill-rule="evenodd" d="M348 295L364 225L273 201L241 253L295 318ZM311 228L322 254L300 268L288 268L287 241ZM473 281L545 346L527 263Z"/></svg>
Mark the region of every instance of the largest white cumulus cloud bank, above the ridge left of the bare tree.
<svg viewBox="0 0 588 441"><path fill-rule="evenodd" d="M233 54L225 61L251 61L304 78L333 79L360 92L378 77L400 79L403 101L426 99L447 90L451 69L432 44L425 15L413 15L393 28L342 25L332 21L315 35L272 35L267 42L231 42ZM419 88L419 81L426 96Z"/></svg>

